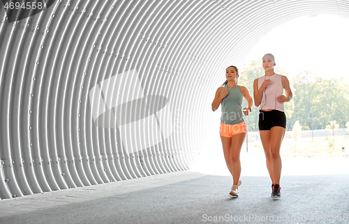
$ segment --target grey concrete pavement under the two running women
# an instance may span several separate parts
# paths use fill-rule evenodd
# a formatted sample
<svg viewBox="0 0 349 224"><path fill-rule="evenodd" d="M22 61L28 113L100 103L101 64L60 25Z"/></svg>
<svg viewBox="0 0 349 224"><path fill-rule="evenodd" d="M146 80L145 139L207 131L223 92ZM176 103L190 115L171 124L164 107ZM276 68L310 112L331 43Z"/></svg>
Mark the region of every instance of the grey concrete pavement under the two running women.
<svg viewBox="0 0 349 224"><path fill-rule="evenodd" d="M0 223L349 223L348 159L283 158L279 199L270 197L262 157L242 154L239 198L228 195L232 178L221 161L202 161L218 169L1 200Z"/></svg>

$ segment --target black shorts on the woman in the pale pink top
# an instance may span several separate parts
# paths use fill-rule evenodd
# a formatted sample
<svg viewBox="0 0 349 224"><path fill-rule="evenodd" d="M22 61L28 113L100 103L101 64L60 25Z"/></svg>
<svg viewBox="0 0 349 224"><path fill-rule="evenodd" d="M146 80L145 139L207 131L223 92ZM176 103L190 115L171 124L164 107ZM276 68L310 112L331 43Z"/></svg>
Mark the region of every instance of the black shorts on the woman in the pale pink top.
<svg viewBox="0 0 349 224"><path fill-rule="evenodd" d="M272 127L286 128L286 115L283 111L260 111L258 128L260 131L270 130Z"/></svg>

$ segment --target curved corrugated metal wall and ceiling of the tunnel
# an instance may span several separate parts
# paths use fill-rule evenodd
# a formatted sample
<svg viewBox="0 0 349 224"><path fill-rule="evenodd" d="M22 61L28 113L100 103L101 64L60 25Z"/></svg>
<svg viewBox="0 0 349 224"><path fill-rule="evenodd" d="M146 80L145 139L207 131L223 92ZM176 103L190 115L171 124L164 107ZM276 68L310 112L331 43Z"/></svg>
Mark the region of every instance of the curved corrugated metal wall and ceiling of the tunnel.
<svg viewBox="0 0 349 224"><path fill-rule="evenodd" d="M0 3L1 199L188 169L227 65L290 19L349 15L343 0L16 2Z"/></svg>

